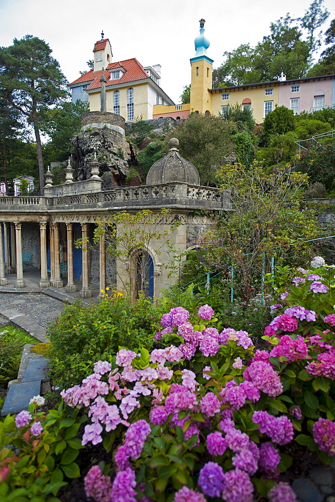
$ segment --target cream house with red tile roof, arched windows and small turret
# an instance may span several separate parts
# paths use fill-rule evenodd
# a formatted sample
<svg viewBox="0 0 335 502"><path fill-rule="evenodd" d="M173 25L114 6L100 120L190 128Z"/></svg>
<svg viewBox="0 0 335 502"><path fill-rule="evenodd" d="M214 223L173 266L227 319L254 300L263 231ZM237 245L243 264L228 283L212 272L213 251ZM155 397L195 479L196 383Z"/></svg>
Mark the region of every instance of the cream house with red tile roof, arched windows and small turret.
<svg viewBox="0 0 335 502"><path fill-rule="evenodd" d="M142 66L136 58L113 63L108 39L94 44L93 68L69 84L72 102L89 103L90 111L100 111L101 77L105 77L105 110L122 115L126 121L153 118L154 105L174 105L160 87L161 66ZM103 77L102 77L103 79Z"/></svg>

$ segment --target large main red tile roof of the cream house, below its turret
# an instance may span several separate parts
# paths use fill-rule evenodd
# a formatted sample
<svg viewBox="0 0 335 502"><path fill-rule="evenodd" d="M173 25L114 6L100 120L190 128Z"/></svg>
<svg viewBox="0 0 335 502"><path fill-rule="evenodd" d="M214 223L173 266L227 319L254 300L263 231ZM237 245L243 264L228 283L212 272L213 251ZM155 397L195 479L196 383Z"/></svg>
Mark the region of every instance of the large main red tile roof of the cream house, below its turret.
<svg viewBox="0 0 335 502"><path fill-rule="evenodd" d="M120 67L123 67L126 70L122 74L121 78L110 80L110 71L108 70L113 70L114 68L120 68ZM90 83L87 90L99 89L101 87L101 82L100 82L101 75L102 75L102 70L100 71L90 70L84 75L81 75L81 77L77 78L77 80L74 80L74 82L71 82L69 85L89 82L93 80L93 82ZM107 80L106 87L110 85L124 84L127 82L135 82L136 80L144 80L149 78L149 75L147 75L147 73L144 71L143 66L138 62L136 58L126 59L125 61L118 61L116 63L110 63L107 66L107 69L104 70L104 75Z"/></svg>

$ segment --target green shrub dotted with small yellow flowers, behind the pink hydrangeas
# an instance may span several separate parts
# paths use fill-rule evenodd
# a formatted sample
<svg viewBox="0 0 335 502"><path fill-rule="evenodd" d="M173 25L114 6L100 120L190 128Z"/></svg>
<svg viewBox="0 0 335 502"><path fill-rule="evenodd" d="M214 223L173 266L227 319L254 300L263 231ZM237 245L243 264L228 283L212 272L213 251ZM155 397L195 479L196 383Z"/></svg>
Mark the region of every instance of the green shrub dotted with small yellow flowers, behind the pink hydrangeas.
<svg viewBox="0 0 335 502"><path fill-rule="evenodd" d="M66 306L48 329L54 385L80 383L96 358L109 360L119 346L150 348L158 318L159 309L149 299L133 304L118 292L105 294L98 304L76 300Z"/></svg>

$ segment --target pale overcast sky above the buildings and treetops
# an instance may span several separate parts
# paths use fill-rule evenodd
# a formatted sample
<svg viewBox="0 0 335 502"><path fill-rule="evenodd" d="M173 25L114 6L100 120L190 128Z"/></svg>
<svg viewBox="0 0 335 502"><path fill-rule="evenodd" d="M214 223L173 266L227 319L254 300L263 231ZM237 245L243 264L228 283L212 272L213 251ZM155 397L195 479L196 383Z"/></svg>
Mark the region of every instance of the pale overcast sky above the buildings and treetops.
<svg viewBox="0 0 335 502"><path fill-rule="evenodd" d="M240 44L255 45L269 34L271 22L287 12L303 16L311 0L0 0L0 46L13 39L34 35L53 50L69 82L88 70L93 45L109 38L113 61L136 57L143 66L162 66L162 88L176 103L183 86L190 83L189 59L195 54L194 38L201 18L210 41L207 55L213 67L222 63L222 53ZM335 3L325 0L330 16Z"/></svg>

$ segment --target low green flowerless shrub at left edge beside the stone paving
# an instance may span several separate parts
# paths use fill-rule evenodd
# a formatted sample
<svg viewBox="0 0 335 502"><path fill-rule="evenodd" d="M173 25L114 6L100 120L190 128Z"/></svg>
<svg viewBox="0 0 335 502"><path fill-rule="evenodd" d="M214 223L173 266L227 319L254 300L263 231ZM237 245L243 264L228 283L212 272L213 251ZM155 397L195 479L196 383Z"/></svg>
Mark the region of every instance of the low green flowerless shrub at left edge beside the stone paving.
<svg viewBox="0 0 335 502"><path fill-rule="evenodd" d="M17 378L23 347L34 342L35 338L10 325L0 332L0 388L7 389L8 383Z"/></svg>

